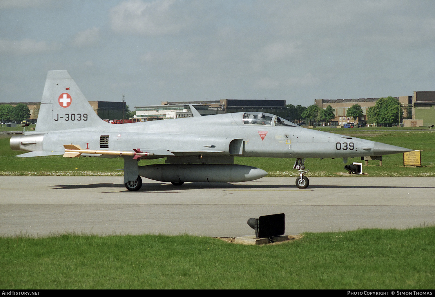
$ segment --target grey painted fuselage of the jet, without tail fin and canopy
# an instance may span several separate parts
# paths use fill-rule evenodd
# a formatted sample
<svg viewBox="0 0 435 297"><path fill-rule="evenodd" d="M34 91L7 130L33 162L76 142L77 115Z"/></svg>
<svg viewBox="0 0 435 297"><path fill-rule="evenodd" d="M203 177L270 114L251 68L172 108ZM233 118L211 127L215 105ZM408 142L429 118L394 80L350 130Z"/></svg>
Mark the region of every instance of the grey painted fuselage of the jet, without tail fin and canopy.
<svg viewBox="0 0 435 297"><path fill-rule="evenodd" d="M109 136L108 150L131 151L140 148L143 152L154 152L154 158L198 154L347 158L409 151L380 142L297 126L244 124L243 114L207 115L122 125L102 121L102 125L97 127L46 132L42 151L63 152L64 145L70 143L82 148L100 149L102 135ZM236 149L230 152L230 143L234 139L242 139L242 151Z"/></svg>

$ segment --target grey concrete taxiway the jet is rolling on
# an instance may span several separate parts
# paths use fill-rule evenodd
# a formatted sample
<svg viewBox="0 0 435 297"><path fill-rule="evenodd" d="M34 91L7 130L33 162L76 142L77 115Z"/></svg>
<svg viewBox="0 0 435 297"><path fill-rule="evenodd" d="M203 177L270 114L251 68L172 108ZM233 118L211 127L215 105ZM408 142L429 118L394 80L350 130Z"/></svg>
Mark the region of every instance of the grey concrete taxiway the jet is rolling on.
<svg viewBox="0 0 435 297"><path fill-rule="evenodd" d="M254 234L249 218L285 213L286 234L435 224L434 177L310 177L243 183L144 178L127 191L122 177L0 176L0 236L79 234Z"/></svg>

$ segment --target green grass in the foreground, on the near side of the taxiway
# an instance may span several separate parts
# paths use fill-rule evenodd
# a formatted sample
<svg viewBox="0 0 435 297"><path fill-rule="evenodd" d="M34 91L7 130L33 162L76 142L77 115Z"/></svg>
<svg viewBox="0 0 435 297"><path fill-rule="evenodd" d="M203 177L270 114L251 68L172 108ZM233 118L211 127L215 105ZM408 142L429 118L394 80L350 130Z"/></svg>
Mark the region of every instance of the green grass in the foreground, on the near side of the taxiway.
<svg viewBox="0 0 435 297"><path fill-rule="evenodd" d="M13 289L434 289L435 227L306 233L266 246L192 236L0 238Z"/></svg>

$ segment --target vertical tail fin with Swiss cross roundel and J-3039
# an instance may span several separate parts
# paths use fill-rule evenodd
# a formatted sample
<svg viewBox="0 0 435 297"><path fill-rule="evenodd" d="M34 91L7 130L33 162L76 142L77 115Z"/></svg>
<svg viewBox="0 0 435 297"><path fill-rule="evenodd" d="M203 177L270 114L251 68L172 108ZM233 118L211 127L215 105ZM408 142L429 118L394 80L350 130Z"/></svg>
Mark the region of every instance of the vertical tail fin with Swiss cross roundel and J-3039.
<svg viewBox="0 0 435 297"><path fill-rule="evenodd" d="M94 112L67 70L47 73L35 131L106 125Z"/></svg>

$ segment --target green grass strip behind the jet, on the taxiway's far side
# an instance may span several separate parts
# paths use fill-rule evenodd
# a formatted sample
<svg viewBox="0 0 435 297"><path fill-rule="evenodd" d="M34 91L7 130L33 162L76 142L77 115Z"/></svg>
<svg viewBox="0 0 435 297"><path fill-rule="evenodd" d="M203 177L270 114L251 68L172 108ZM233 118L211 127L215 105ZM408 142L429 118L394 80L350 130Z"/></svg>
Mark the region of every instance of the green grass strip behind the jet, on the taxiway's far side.
<svg viewBox="0 0 435 297"><path fill-rule="evenodd" d="M435 130L404 129L403 127L368 129L324 128L328 132L351 135L358 138L422 150L422 167L403 167L403 154L385 155L382 166L378 161L369 161L363 166L368 176L435 176ZM123 175L122 158L63 158L62 156L15 158L23 152L11 151L9 138L0 138L0 175ZM292 170L294 159L290 158L244 158L235 157L234 162L250 165L269 172L268 176L297 176ZM349 158L351 162L361 162L360 158ZM161 164L164 159L141 160L139 165ZM362 162L364 163L364 162ZM343 160L307 159L305 167L310 169L308 176L338 176L345 172Z"/></svg>

